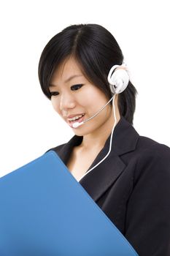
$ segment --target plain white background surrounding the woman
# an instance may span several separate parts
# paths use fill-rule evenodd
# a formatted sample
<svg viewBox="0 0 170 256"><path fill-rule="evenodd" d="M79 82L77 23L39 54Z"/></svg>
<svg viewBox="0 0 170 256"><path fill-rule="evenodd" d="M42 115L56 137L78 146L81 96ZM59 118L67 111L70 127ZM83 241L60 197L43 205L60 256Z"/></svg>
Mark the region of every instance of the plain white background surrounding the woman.
<svg viewBox="0 0 170 256"><path fill-rule="evenodd" d="M0 176L74 135L42 94L37 75L47 42L74 23L98 23L114 35L139 93L134 127L170 146L169 1L0 3Z"/></svg>

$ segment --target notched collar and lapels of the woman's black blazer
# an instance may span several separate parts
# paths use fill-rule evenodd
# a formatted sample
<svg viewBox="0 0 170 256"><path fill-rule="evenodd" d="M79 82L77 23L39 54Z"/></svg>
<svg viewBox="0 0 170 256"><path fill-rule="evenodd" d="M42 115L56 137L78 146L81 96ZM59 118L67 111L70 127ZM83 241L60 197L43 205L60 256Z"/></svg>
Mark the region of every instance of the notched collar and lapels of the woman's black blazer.
<svg viewBox="0 0 170 256"><path fill-rule="evenodd" d="M111 135L107 138L104 148L101 149L88 170L107 155L110 137ZM61 157L65 164L72 153L72 148L80 145L82 138L82 136L74 135L74 137L58 151L58 156ZM120 155L134 151L138 139L139 134L134 127L121 116L113 132L112 149L109 156L79 181L93 200L97 201L123 172L125 164L120 159Z"/></svg>

